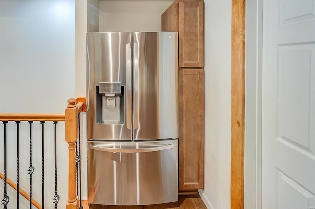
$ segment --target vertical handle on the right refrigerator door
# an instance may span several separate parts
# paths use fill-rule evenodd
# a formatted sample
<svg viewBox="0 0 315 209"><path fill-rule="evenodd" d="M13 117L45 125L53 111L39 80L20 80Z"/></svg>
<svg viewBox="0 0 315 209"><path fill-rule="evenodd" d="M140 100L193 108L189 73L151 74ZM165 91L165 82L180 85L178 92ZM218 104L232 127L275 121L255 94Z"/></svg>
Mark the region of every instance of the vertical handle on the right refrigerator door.
<svg viewBox="0 0 315 209"><path fill-rule="evenodd" d="M139 45L134 43L134 129L139 128Z"/></svg>

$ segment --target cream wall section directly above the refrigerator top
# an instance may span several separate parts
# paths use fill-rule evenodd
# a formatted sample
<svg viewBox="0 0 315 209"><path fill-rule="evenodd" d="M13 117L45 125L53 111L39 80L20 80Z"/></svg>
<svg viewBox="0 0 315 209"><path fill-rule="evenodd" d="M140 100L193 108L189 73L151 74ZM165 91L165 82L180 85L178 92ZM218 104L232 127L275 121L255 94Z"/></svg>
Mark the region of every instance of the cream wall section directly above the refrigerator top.
<svg viewBox="0 0 315 209"><path fill-rule="evenodd" d="M99 32L161 31L169 1L99 1Z"/></svg>

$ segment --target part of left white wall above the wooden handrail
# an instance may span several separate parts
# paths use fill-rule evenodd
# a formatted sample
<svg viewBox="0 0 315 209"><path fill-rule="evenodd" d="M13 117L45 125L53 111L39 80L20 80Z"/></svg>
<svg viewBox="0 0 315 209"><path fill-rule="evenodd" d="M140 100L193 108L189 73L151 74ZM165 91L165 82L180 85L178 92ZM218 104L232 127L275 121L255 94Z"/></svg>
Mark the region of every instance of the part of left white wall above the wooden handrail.
<svg viewBox="0 0 315 209"><path fill-rule="evenodd" d="M1 0L1 112L64 112L74 95L74 12L74 1Z"/></svg>

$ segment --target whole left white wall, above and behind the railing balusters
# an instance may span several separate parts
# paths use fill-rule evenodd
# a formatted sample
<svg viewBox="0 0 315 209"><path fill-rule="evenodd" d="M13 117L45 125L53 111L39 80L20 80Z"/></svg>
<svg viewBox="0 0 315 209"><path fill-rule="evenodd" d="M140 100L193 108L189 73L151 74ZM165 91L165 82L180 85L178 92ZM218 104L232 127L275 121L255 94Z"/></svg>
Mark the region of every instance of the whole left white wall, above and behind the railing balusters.
<svg viewBox="0 0 315 209"><path fill-rule="evenodd" d="M67 99L75 96L75 1L0 1L0 112L63 114ZM53 124L45 125L45 208L53 208ZM59 122L57 167L59 208L67 200L68 155L64 122ZM21 123L20 186L29 191L29 124ZM16 126L8 124L8 176L16 179ZM41 132L33 123L33 198L41 202ZM0 125L0 171L4 172L3 125ZM66 157L67 158L67 157ZM3 181L0 194L3 194ZM15 208L9 189L8 208ZM21 208L28 202L21 197Z"/></svg>

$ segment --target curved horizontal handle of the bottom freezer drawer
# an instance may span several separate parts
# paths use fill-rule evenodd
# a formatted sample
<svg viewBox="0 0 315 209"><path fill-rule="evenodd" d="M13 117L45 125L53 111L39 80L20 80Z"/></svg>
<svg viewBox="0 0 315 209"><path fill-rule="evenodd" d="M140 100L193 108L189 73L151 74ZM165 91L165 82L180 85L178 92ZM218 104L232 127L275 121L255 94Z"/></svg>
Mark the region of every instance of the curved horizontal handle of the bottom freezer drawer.
<svg viewBox="0 0 315 209"><path fill-rule="evenodd" d="M119 152L119 153L141 153L141 152L153 152L153 151L161 151L165 149L172 149L175 147L175 144L168 144L158 147L146 147L146 148L113 148L113 147L103 147L97 145L90 145L91 149L106 151L106 152Z"/></svg>

